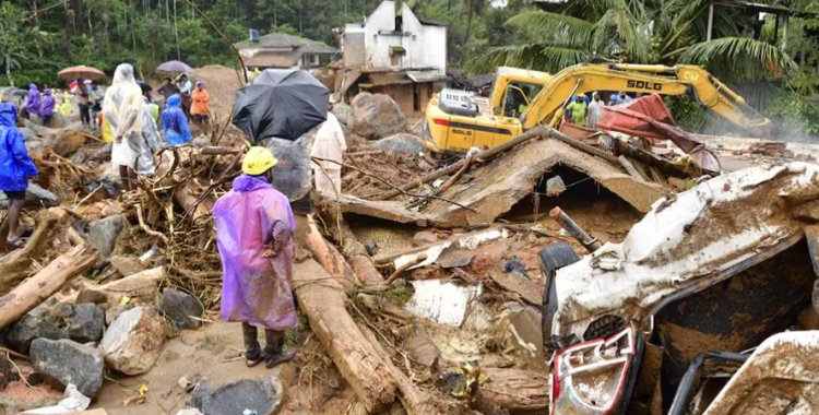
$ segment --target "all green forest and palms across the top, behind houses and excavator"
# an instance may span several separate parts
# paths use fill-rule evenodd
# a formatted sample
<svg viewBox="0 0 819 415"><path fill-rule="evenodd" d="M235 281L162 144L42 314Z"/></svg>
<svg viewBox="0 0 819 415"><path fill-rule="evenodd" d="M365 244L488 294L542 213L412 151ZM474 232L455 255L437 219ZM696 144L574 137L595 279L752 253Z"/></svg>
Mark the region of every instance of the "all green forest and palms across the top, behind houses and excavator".
<svg viewBox="0 0 819 415"><path fill-rule="evenodd" d="M780 124L819 133L819 1L760 0L795 15L760 21L734 0L404 0L449 24L449 67L486 73L499 64L555 72L580 62L702 64ZM284 32L337 46L335 28L359 22L380 0L2 0L0 84L51 85L62 68L109 74L131 62L140 74L169 59L237 66L223 39ZM708 40L708 10L716 4ZM502 5L502 7L499 7ZM214 28L218 28L218 32ZM4 76L2 76L4 75ZM674 100L678 121L703 130L696 103Z"/></svg>

